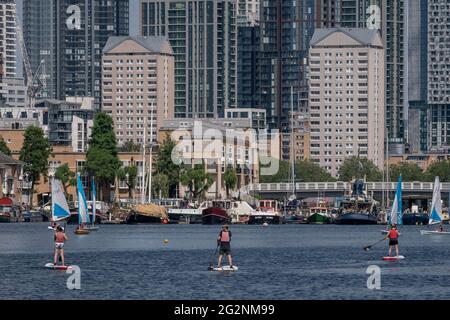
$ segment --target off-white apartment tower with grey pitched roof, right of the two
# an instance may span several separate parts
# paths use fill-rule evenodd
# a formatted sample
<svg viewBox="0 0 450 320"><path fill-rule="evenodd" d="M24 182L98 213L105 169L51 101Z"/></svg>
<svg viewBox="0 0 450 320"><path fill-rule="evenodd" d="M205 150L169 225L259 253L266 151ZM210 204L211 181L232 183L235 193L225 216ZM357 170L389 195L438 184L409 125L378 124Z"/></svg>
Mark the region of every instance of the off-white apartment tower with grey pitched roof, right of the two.
<svg viewBox="0 0 450 320"><path fill-rule="evenodd" d="M384 164L385 56L376 30L317 29L310 43L310 157L333 176L352 156Z"/></svg>

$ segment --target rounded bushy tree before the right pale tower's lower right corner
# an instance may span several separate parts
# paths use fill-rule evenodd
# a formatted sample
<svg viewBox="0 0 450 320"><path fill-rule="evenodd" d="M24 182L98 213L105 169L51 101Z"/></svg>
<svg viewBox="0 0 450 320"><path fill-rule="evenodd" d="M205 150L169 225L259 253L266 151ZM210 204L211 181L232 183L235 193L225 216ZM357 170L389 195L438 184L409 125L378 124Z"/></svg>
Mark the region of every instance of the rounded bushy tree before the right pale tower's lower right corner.
<svg viewBox="0 0 450 320"><path fill-rule="evenodd" d="M339 167L338 176L341 181L364 179L367 181L382 181L383 174L377 166L366 158L351 157Z"/></svg>

